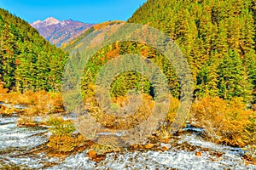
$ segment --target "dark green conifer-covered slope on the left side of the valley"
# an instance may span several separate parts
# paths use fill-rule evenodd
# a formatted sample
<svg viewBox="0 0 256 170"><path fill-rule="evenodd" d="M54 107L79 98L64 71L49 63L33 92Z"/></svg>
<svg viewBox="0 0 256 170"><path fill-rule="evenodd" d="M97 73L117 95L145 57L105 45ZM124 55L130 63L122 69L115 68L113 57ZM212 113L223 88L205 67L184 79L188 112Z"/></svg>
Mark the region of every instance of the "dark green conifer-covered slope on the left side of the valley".
<svg viewBox="0 0 256 170"><path fill-rule="evenodd" d="M66 59L25 20L0 8L0 82L5 88L58 91Z"/></svg>

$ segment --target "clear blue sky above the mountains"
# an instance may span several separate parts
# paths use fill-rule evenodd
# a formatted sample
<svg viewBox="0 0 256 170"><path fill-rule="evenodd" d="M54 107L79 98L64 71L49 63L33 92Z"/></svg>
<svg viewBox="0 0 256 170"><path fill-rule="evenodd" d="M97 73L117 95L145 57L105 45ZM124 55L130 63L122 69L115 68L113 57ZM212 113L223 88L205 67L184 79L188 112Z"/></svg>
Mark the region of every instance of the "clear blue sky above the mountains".
<svg viewBox="0 0 256 170"><path fill-rule="evenodd" d="M53 16L58 20L101 23L127 20L147 0L0 0L0 8L28 22Z"/></svg>

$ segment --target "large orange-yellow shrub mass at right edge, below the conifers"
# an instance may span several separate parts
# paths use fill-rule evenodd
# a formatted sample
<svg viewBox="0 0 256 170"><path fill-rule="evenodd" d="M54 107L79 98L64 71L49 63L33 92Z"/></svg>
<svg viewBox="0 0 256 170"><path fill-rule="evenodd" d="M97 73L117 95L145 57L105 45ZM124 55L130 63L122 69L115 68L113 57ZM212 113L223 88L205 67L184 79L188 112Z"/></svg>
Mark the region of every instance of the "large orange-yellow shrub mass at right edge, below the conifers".
<svg viewBox="0 0 256 170"><path fill-rule="evenodd" d="M246 110L240 98L225 101L207 96L192 105L191 114L212 141L241 147L255 142L255 112Z"/></svg>

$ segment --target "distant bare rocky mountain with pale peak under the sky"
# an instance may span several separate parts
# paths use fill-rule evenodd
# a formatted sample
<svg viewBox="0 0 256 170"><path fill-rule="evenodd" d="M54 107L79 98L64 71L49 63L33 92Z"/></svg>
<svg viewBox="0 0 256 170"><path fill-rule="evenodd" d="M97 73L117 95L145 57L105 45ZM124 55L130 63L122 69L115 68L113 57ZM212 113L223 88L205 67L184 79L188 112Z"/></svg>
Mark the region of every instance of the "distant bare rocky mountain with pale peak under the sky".
<svg viewBox="0 0 256 170"><path fill-rule="evenodd" d="M46 20L37 20L31 24L40 35L49 42L61 47L64 43L70 42L82 32L94 24L86 24L76 20L57 20L49 17Z"/></svg>

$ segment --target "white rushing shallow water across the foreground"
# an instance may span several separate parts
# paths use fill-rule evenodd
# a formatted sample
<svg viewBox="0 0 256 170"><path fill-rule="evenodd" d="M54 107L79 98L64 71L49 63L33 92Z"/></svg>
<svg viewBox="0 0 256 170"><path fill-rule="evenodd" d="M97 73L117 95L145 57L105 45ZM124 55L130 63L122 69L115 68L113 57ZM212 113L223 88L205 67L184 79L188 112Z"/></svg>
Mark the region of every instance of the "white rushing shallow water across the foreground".
<svg viewBox="0 0 256 170"><path fill-rule="evenodd" d="M48 141L47 128L17 127L15 116L0 121L0 169L256 169L242 158L243 150L206 142L196 133L183 133L170 144L161 144L170 148L167 151L126 150L96 162L84 150L63 160L37 151Z"/></svg>

